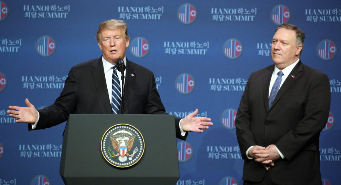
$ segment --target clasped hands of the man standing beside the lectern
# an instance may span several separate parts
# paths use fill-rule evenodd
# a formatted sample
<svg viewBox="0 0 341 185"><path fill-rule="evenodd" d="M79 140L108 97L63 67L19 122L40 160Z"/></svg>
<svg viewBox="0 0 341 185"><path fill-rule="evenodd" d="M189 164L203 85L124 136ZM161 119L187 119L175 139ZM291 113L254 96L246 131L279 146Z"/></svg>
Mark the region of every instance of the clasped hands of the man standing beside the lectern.
<svg viewBox="0 0 341 185"><path fill-rule="evenodd" d="M248 156L254 158L256 162L261 163L266 170L269 170L271 166L275 165L275 161L281 158L275 145L269 145L267 147L253 146L249 150Z"/></svg>

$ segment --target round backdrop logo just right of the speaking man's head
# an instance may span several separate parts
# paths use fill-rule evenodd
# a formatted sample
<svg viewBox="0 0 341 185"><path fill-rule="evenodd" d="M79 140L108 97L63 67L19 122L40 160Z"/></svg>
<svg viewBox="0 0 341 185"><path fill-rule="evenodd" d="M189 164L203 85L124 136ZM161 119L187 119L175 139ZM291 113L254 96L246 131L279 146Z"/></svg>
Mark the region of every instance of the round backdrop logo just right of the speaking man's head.
<svg viewBox="0 0 341 185"><path fill-rule="evenodd" d="M131 41L130 44L130 53L137 57L142 58L145 57L150 50L150 45L147 39L143 37L136 37Z"/></svg>

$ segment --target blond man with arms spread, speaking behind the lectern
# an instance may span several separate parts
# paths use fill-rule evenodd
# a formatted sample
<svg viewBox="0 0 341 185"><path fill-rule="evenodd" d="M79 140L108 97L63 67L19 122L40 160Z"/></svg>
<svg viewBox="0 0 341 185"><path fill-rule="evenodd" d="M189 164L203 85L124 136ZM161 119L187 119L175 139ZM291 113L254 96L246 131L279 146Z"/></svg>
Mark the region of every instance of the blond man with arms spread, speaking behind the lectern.
<svg viewBox="0 0 341 185"><path fill-rule="evenodd" d="M122 58L127 67L124 71L123 114L167 114L153 72L125 57L129 38L124 21L112 19L102 22L96 35L102 56L72 67L54 104L37 111L26 99L27 107L9 106L14 110L7 112L19 118L16 122L29 123L29 130L60 124L68 119L69 114L119 114L122 108L122 80L121 73L116 71L116 61ZM113 85L115 83L119 86ZM116 100L118 105L115 104ZM200 129L208 129L206 125L213 124L206 122L210 118L195 117L197 113L198 110L195 110L183 119L175 119L178 138L186 139L187 131L203 132Z"/></svg>

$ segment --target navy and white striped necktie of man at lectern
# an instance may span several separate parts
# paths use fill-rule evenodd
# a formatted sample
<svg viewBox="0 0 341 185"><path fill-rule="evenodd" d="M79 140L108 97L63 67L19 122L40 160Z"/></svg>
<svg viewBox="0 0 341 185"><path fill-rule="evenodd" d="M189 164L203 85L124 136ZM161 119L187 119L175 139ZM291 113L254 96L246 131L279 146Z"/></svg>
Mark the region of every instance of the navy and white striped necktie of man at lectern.
<svg viewBox="0 0 341 185"><path fill-rule="evenodd" d="M114 114L118 114L122 101L121 86L116 73L117 65L114 65L112 68L114 69L114 71L112 78L111 109L113 110Z"/></svg>

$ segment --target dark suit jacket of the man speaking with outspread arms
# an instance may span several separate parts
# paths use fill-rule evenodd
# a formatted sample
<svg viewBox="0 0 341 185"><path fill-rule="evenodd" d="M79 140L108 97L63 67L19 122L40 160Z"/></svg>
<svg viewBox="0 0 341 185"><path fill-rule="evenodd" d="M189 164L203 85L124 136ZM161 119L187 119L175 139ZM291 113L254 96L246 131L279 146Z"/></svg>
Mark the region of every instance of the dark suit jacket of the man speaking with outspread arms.
<svg viewBox="0 0 341 185"><path fill-rule="evenodd" d="M128 60L126 66L123 114L167 114L153 72ZM60 124L68 119L69 114L113 114L102 56L72 67L55 103L38 112L40 118L35 129ZM180 118L175 119L177 137L186 139L187 133L184 137L180 135L179 121ZM31 125L29 130L32 130Z"/></svg>

